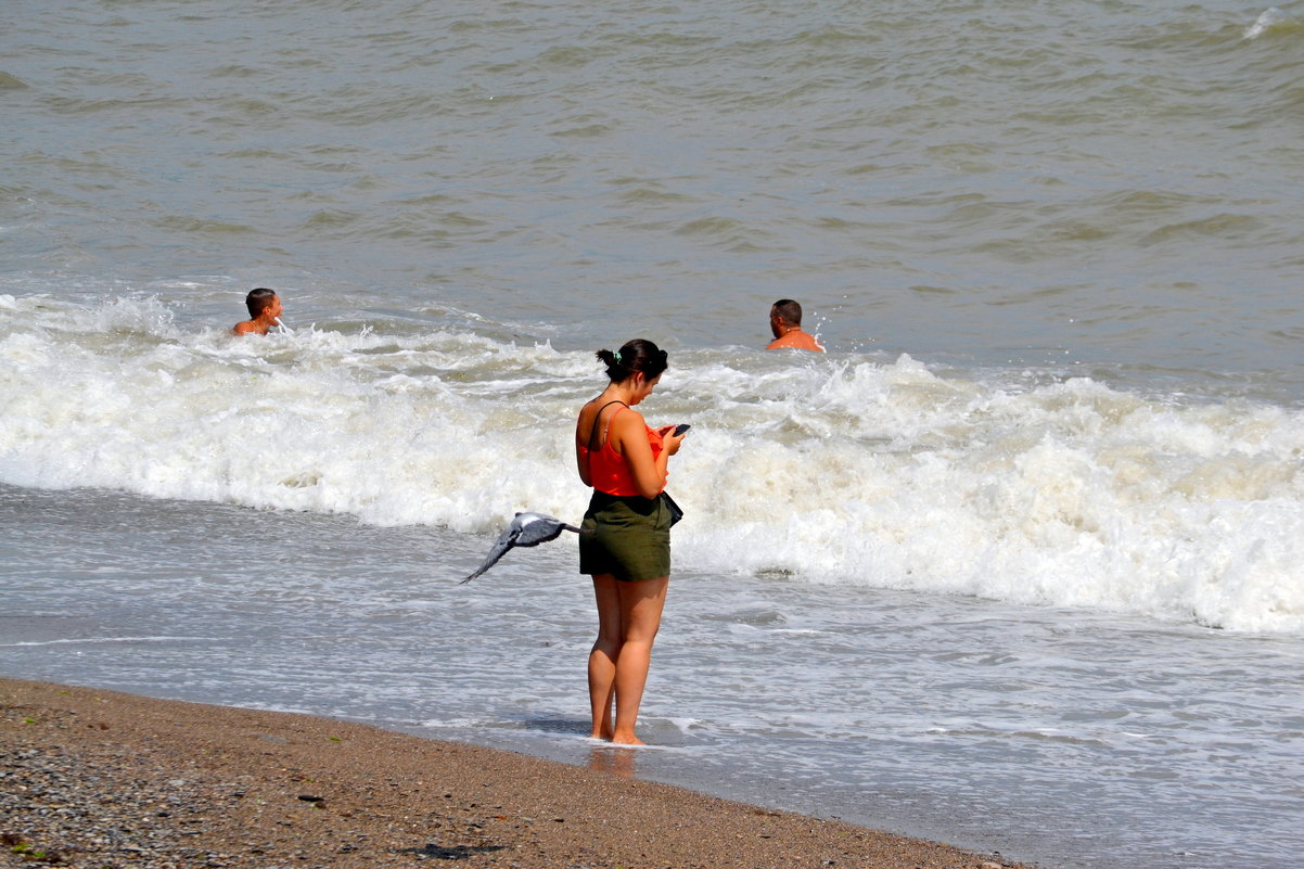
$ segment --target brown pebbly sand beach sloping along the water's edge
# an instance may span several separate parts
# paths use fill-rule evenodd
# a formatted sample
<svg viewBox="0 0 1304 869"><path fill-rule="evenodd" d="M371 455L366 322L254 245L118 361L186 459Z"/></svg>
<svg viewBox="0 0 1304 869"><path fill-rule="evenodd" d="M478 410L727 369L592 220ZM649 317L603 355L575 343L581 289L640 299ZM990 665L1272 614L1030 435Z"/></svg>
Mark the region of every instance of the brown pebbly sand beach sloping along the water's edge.
<svg viewBox="0 0 1304 869"><path fill-rule="evenodd" d="M0 865L998 869L619 774L373 727L0 678Z"/></svg>

